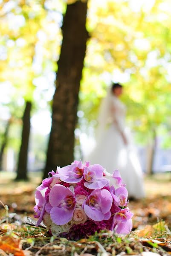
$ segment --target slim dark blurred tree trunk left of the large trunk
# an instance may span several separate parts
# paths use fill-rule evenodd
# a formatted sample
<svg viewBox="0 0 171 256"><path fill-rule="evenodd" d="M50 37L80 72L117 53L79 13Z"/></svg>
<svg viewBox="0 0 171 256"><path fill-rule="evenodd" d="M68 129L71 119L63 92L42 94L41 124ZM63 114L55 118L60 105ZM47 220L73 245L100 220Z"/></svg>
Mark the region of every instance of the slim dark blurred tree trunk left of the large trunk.
<svg viewBox="0 0 171 256"><path fill-rule="evenodd" d="M17 165L16 180L27 180L27 156L29 148L29 134L30 134L30 112L32 104L26 102L26 107L23 113L23 130L21 136L20 152Z"/></svg>

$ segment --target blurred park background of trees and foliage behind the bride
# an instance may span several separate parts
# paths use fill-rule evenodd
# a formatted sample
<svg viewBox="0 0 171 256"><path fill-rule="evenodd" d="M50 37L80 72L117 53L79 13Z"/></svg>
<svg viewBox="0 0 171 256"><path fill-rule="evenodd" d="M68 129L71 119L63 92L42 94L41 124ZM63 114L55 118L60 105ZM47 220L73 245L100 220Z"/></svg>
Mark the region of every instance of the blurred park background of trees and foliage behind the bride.
<svg viewBox="0 0 171 256"><path fill-rule="evenodd" d="M1 173L84 157L111 81L143 171L170 172L170 13L170 0L0 0Z"/></svg>

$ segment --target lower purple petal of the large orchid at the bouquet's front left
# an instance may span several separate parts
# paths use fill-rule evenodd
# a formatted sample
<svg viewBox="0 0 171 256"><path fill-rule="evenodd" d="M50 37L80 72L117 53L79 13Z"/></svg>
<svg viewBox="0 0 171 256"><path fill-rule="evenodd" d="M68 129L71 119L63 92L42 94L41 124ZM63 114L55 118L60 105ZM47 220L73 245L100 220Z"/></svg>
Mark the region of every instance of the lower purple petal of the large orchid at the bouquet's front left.
<svg viewBox="0 0 171 256"><path fill-rule="evenodd" d="M64 225L71 221L73 212L74 209L68 211L63 207L53 207L50 211L50 217L56 225Z"/></svg>

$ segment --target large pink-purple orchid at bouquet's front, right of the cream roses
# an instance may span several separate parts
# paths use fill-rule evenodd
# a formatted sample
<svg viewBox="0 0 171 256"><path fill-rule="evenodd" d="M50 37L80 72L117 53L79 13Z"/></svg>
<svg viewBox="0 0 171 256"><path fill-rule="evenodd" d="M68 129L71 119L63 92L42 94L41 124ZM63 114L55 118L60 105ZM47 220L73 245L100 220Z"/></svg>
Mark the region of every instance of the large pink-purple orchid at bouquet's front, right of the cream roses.
<svg viewBox="0 0 171 256"><path fill-rule="evenodd" d="M108 220L111 216L112 201L112 196L107 189L95 189L84 201L82 208L93 221Z"/></svg>

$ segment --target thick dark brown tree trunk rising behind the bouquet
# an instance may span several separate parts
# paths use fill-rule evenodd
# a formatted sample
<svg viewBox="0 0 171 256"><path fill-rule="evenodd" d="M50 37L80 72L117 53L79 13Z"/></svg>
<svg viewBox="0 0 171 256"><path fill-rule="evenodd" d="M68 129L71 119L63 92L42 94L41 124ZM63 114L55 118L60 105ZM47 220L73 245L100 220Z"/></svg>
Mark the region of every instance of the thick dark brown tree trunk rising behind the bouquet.
<svg viewBox="0 0 171 256"><path fill-rule="evenodd" d="M87 2L76 1L67 6L44 177L56 166L73 160L78 93L88 38L86 16Z"/></svg>

